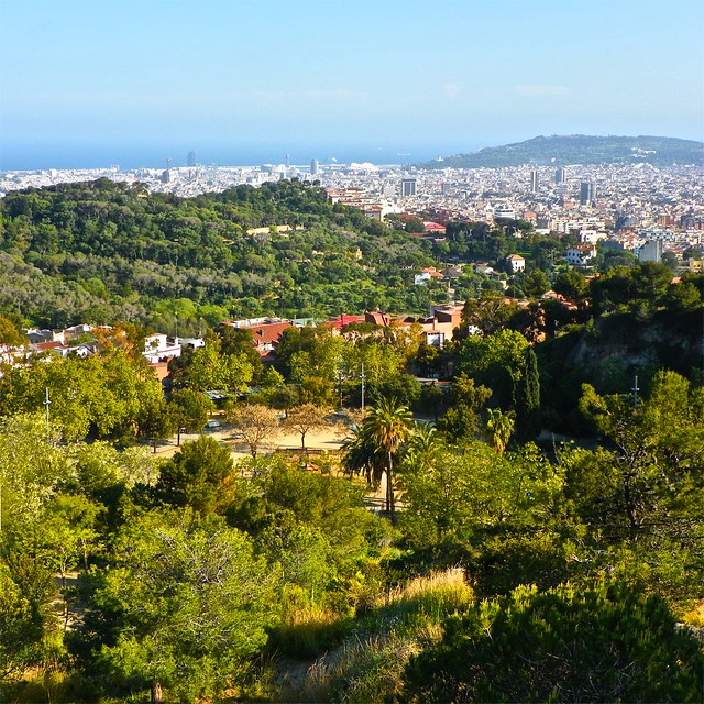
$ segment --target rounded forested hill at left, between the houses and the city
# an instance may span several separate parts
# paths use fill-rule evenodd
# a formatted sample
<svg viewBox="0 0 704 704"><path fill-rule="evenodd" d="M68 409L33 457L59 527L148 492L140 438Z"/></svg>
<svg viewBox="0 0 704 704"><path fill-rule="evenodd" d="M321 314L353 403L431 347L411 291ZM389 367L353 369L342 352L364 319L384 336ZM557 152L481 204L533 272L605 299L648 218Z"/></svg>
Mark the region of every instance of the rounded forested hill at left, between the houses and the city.
<svg viewBox="0 0 704 704"><path fill-rule="evenodd" d="M284 224L295 229L277 234ZM263 226L272 232L248 235ZM209 324L327 318L341 301L422 312L430 298L409 267L429 254L304 183L179 199L100 179L0 201L0 310L54 328L143 323L178 314L178 299Z"/></svg>

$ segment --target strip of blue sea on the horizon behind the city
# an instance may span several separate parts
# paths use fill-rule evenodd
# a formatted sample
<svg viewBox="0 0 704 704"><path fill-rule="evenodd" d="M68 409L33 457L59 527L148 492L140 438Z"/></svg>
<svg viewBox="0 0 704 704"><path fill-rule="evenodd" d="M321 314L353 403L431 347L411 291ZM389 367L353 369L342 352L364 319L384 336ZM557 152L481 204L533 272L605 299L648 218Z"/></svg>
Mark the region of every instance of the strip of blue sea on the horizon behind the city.
<svg viewBox="0 0 704 704"><path fill-rule="evenodd" d="M106 168L118 165L122 170L133 168L165 168L185 166L190 151L197 163L218 166L258 166L283 164L287 155L290 164L309 165L317 158L324 164L411 164L428 162L438 156L459 152L474 152L473 144L110 144L110 143L4 143L0 144L0 170L35 170L50 168Z"/></svg>

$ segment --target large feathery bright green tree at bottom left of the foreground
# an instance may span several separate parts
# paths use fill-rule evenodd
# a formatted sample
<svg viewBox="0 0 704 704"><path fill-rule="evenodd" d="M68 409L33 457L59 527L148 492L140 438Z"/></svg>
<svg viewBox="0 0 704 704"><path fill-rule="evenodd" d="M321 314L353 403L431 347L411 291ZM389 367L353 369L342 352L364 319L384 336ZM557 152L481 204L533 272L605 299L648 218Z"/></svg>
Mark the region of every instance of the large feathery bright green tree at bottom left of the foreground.
<svg viewBox="0 0 704 704"><path fill-rule="evenodd" d="M251 540L187 512L153 512L125 524L110 570L94 579L88 605L103 670L152 702L218 696L241 682L246 660L276 620L277 573ZM96 618L98 617L98 618Z"/></svg>

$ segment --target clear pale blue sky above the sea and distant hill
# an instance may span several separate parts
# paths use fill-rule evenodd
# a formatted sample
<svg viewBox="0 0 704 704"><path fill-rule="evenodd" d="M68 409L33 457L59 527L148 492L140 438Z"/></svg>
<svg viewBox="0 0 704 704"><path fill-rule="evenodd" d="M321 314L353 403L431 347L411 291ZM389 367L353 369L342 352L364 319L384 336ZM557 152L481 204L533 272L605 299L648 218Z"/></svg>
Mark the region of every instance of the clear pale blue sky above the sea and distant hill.
<svg viewBox="0 0 704 704"><path fill-rule="evenodd" d="M703 37L702 0L0 0L0 160L702 140Z"/></svg>

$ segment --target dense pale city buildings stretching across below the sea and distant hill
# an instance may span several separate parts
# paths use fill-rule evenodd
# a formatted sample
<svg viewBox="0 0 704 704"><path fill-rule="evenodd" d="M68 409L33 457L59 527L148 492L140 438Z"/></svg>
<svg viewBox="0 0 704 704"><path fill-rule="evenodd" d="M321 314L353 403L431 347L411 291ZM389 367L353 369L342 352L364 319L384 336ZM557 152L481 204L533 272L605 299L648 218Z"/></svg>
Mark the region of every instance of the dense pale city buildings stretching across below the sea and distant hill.
<svg viewBox="0 0 704 704"><path fill-rule="evenodd" d="M193 198L239 185L253 187L280 179L319 185L332 202L342 202L384 221L388 215L421 216L428 237L451 220L521 219L549 235L573 232L583 250L570 264L587 264L598 242L618 246L640 261L662 261L671 252L682 258L703 243L704 178L702 164L654 167L631 165L524 165L499 168L424 168L372 163L326 164L290 158L261 166L205 166L187 154L186 166L106 169L47 169L0 173L0 194L62 183L109 178L144 184L152 193ZM565 257L568 253L565 252ZM579 257L579 258L575 258ZM688 262L698 267L698 260ZM698 270L697 270L698 271Z"/></svg>

